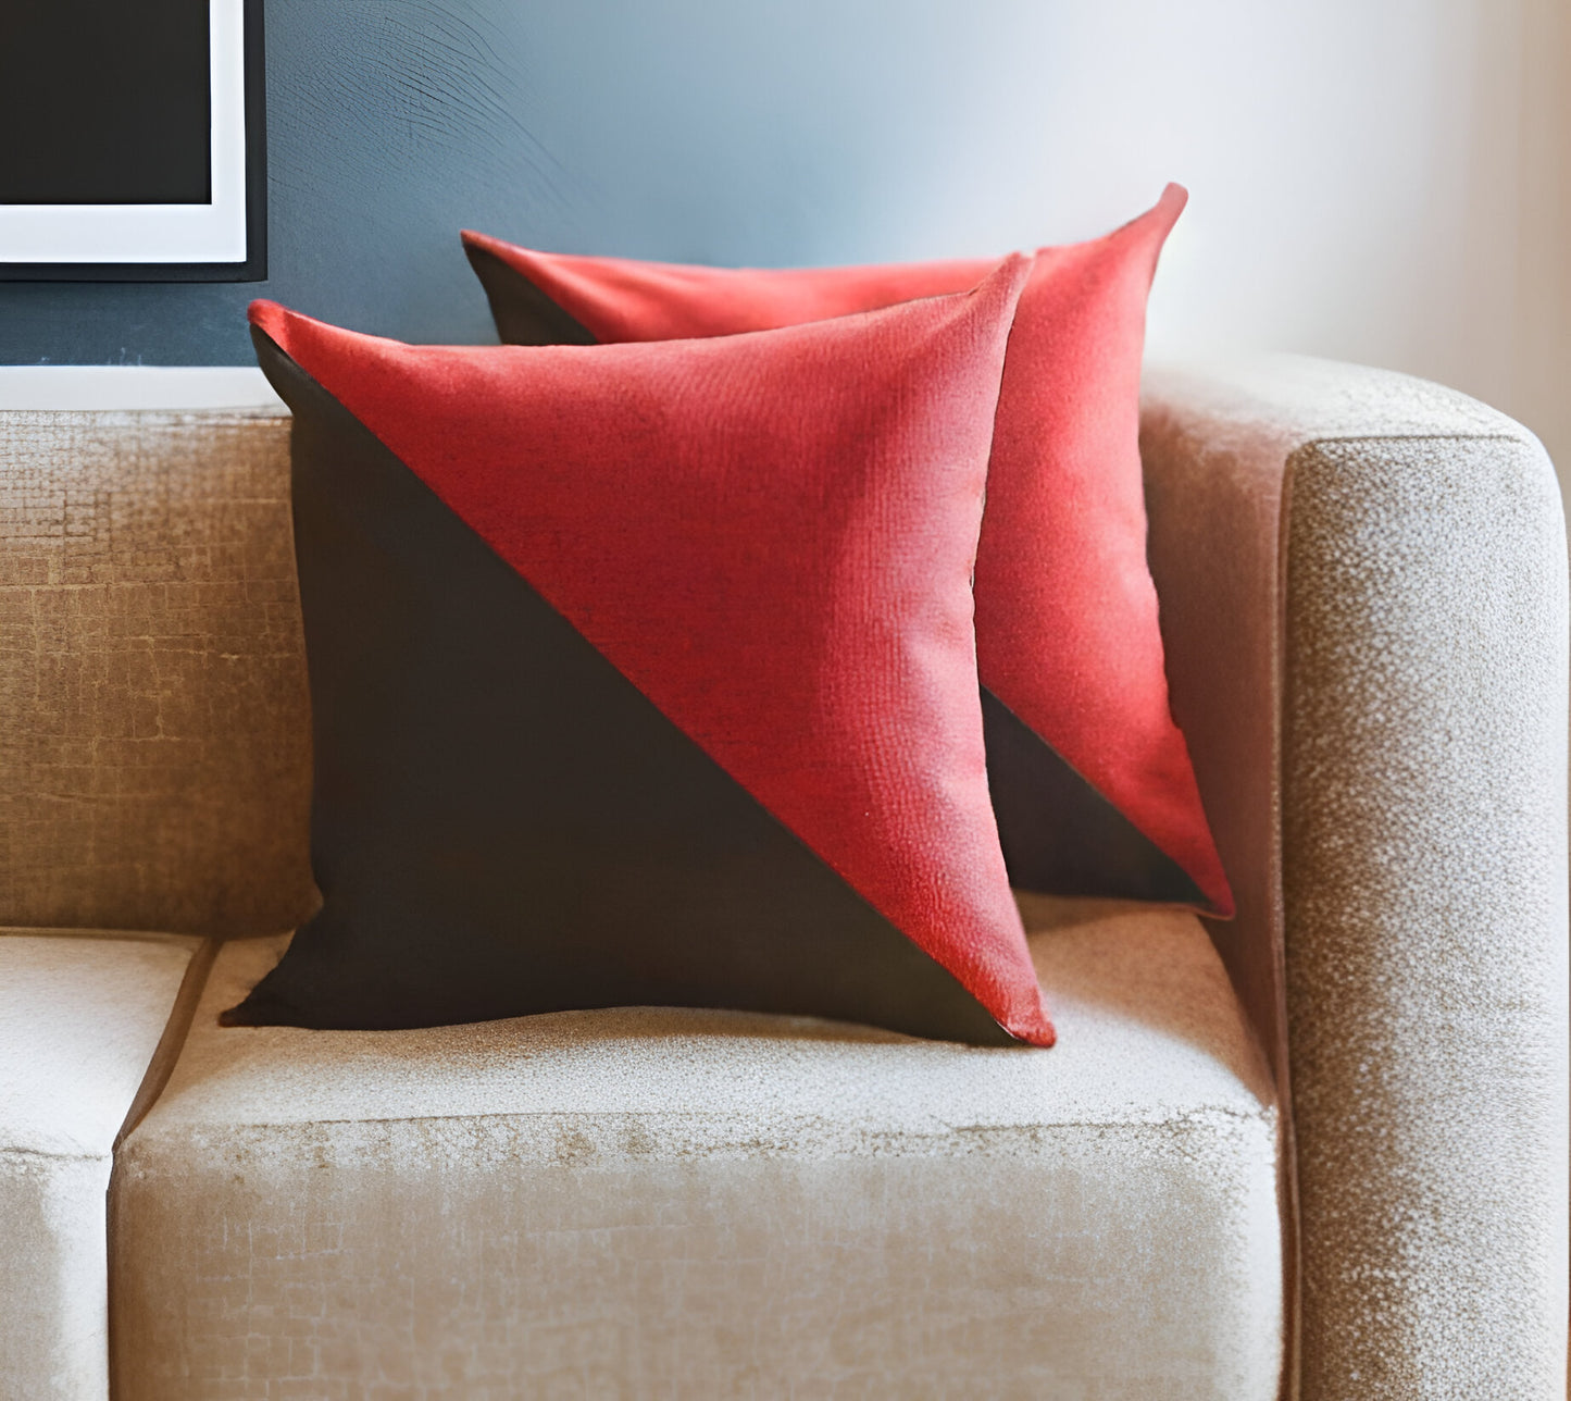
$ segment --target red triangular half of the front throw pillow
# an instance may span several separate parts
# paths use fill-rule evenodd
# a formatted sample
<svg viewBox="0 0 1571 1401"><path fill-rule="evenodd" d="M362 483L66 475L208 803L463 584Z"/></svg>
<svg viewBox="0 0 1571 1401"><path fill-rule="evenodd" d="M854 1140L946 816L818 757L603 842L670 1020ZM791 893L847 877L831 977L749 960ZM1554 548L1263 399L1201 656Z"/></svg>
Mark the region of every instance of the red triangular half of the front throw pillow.
<svg viewBox="0 0 1571 1401"><path fill-rule="evenodd" d="M1016 256L968 296L658 344L416 347L270 302L251 321L1007 1031L1048 1046L988 802L971 598L1027 275Z"/></svg>

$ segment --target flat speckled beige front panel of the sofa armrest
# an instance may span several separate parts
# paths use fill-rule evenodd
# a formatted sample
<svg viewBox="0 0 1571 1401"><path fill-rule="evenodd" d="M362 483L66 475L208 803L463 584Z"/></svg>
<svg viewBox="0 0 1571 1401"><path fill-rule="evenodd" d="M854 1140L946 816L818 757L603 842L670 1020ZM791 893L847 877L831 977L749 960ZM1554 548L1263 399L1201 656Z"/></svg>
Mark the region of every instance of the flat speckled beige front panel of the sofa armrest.
<svg viewBox="0 0 1571 1401"><path fill-rule="evenodd" d="M1306 1351L1306 1379L1312 1395L1357 1376L1371 1398L1558 1396L1558 491L1521 436L1324 442L1290 472L1288 1036L1315 1231L1304 1318L1335 1338ZM1444 965L1392 956L1417 931ZM1353 1327L1367 1315L1384 1337Z"/></svg>

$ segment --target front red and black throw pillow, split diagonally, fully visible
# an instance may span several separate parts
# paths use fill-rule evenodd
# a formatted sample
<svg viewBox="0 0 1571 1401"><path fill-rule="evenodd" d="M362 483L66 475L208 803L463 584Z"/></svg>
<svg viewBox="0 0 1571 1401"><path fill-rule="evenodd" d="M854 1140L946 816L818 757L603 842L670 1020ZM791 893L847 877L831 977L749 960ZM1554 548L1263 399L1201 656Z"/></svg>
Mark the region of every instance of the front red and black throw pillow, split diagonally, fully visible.
<svg viewBox="0 0 1571 1401"><path fill-rule="evenodd" d="M1051 1044L971 596L1027 272L600 347L255 303L294 410L324 904L226 1020L658 1003Z"/></svg>

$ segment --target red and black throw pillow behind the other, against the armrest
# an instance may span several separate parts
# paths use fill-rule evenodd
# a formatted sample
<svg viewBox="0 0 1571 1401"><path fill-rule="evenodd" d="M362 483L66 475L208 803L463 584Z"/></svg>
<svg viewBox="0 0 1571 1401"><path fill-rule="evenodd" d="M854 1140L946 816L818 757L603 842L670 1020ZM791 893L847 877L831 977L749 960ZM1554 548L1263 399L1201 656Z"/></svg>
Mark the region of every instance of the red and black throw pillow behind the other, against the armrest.
<svg viewBox="0 0 1571 1401"><path fill-rule="evenodd" d="M1233 899L1167 704L1145 564L1145 300L1181 187L1133 223L1042 248L1004 365L976 572L988 777L1010 879L1060 895ZM465 233L515 344L795 325L972 286L985 261L716 269L537 253Z"/></svg>

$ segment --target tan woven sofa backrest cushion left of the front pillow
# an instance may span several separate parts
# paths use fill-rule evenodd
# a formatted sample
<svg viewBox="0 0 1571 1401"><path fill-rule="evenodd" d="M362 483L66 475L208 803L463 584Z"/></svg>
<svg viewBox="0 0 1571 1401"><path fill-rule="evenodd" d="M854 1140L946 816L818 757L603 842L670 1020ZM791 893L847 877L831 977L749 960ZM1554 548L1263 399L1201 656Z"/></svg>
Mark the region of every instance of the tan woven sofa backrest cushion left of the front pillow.
<svg viewBox="0 0 1571 1401"><path fill-rule="evenodd" d="M289 420L0 412L0 923L292 928Z"/></svg>

